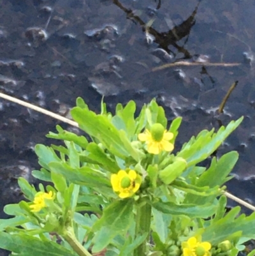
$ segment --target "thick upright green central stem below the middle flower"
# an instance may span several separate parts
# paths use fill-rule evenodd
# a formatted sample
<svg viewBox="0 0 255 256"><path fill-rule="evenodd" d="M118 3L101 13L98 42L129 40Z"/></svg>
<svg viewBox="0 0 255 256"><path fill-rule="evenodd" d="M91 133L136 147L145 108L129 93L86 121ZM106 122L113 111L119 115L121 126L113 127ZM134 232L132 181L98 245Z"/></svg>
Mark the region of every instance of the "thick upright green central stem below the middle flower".
<svg viewBox="0 0 255 256"><path fill-rule="evenodd" d="M151 206L147 202L138 205L136 208L136 237L145 233L148 234L142 245L135 249L134 256L145 256L146 245L150 237L150 222L151 222Z"/></svg>

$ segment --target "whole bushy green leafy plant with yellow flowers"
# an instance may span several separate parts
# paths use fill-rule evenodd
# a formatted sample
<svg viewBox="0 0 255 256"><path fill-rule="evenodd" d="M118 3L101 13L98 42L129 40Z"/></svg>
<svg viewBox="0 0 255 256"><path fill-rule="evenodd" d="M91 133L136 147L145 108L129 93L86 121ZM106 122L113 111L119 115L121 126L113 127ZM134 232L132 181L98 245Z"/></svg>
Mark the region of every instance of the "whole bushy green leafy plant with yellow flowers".
<svg viewBox="0 0 255 256"><path fill-rule="evenodd" d="M217 132L203 130L171 152L182 118L169 126L156 100L140 113L133 101L119 103L115 114L102 101L96 114L78 98L71 114L86 135L57 126L47 137L62 140L61 146L35 147L41 170L33 176L47 186L37 191L18 179L26 201L4 207L11 218L0 220L0 248L16 255L91 256L105 250L106 256L181 256L182 242L201 237L212 245L212 255L236 256L254 237L255 214L239 215L240 207L225 212L222 193L238 153L201 166L242 117ZM152 147L159 153L152 154Z"/></svg>

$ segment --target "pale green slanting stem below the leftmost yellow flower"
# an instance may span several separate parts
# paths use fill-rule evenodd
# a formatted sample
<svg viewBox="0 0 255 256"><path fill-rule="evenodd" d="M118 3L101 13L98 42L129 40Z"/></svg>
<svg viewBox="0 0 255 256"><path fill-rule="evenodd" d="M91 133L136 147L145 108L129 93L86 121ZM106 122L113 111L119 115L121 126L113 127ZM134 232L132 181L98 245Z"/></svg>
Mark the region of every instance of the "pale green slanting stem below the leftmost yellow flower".
<svg viewBox="0 0 255 256"><path fill-rule="evenodd" d="M65 230L63 232L62 237L69 243L71 248L79 255L79 256L92 256L91 253L89 253L84 246L77 240L73 229L69 227L68 230Z"/></svg>

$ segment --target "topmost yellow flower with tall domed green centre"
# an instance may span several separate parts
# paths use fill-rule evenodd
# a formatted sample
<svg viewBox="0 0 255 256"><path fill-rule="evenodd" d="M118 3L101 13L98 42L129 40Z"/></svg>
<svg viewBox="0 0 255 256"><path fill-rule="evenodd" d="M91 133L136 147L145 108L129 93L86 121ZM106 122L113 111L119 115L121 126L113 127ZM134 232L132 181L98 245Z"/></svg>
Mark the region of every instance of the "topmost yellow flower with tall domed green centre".
<svg viewBox="0 0 255 256"><path fill-rule="evenodd" d="M172 151L173 144L169 140L173 139L173 133L166 132L162 124L156 123L152 128L145 130L145 133L138 134L138 139L145 141L147 144L147 151L150 154L159 154L161 151Z"/></svg>

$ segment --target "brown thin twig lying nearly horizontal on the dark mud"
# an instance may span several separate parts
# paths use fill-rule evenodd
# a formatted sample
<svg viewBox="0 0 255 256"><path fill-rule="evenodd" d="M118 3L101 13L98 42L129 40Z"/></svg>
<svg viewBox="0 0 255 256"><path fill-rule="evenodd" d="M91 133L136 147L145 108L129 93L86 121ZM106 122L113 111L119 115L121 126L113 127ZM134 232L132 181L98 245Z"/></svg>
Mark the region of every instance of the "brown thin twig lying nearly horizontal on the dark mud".
<svg viewBox="0 0 255 256"><path fill-rule="evenodd" d="M157 66L156 68L152 68L152 72L158 70L164 70L165 68L171 68L173 66L222 66L222 67L230 67L230 66L239 66L241 63L200 63L200 62L188 62L188 61L177 61L175 63L167 63L162 66Z"/></svg>

